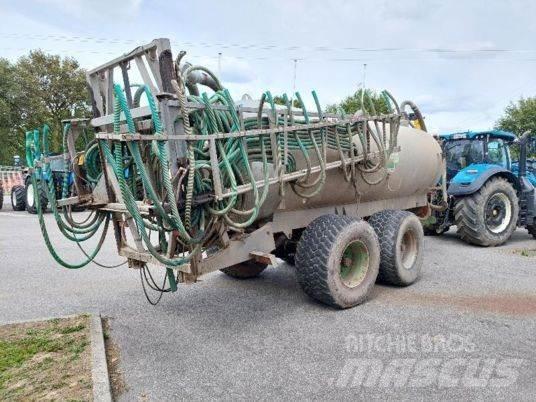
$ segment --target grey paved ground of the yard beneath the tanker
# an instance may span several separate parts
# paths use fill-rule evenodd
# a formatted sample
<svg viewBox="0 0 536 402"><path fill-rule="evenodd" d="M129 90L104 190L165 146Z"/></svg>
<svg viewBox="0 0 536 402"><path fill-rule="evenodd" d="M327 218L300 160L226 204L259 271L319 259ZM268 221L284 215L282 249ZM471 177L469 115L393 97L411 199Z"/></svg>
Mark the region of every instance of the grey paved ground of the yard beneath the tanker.
<svg viewBox="0 0 536 402"><path fill-rule="evenodd" d="M127 384L121 400L508 399L536 395L536 248L525 230L503 247L426 238L408 288L376 286L336 311L308 299L292 266L237 281L179 285L156 307L126 267L67 270L37 218L0 211L0 321L82 312L111 318ZM52 216L47 222L53 224ZM76 247L52 239L70 260ZM113 235L99 255L120 262Z"/></svg>

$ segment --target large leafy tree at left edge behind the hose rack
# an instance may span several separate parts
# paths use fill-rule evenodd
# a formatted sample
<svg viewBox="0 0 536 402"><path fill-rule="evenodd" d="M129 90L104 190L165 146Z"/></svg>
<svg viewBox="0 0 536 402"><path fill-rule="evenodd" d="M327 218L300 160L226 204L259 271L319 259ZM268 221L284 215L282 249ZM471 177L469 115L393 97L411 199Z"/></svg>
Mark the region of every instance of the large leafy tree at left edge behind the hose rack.
<svg viewBox="0 0 536 402"><path fill-rule="evenodd" d="M24 160L24 133L48 123L52 150L61 144L61 120L88 114L85 72L72 58L40 50L16 63L0 59L0 164Z"/></svg>

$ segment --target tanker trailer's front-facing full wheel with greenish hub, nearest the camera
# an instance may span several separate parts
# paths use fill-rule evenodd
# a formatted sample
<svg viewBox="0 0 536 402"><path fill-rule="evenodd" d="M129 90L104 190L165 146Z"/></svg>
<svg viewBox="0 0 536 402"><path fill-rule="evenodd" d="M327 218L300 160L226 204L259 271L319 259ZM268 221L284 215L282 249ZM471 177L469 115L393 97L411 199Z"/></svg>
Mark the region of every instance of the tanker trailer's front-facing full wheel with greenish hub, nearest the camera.
<svg viewBox="0 0 536 402"><path fill-rule="evenodd" d="M303 291L337 308L366 300L379 265L374 229L363 220L339 215L324 215L311 222L296 250L296 272Z"/></svg>

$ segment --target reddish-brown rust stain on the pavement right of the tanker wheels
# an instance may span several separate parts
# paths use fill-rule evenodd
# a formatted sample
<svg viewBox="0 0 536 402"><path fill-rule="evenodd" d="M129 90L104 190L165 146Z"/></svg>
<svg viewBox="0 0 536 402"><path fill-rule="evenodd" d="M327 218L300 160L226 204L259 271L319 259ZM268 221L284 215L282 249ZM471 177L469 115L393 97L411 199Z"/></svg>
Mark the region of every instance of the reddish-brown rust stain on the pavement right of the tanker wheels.
<svg viewBox="0 0 536 402"><path fill-rule="evenodd" d="M536 295L528 293L454 295L446 293L415 293L406 289L376 286L371 299L388 304L428 305L509 316L536 316Z"/></svg>

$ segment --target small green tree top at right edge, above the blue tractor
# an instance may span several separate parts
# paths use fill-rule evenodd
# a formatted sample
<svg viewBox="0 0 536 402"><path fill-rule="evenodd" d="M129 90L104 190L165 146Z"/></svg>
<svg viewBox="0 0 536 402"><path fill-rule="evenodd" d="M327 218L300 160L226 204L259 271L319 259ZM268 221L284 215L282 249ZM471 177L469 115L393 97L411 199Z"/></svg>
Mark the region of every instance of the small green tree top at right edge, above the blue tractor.
<svg viewBox="0 0 536 402"><path fill-rule="evenodd" d="M521 98L517 103L510 102L495 127L517 135L527 130L536 134L536 97Z"/></svg>

